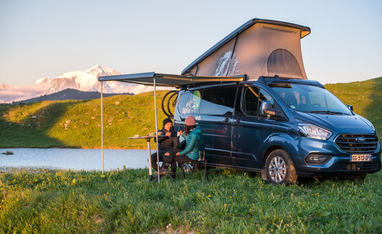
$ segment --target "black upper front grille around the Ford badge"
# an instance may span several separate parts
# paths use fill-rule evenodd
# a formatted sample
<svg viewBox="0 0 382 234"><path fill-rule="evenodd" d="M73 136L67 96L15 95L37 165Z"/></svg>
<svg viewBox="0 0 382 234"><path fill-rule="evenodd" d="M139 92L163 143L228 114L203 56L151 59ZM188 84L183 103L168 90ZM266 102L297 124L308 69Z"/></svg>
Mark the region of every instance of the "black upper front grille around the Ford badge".
<svg viewBox="0 0 382 234"><path fill-rule="evenodd" d="M358 137L365 138L365 142L357 142ZM374 134L341 134L335 142L342 151L348 153L375 152L378 147L378 139Z"/></svg>

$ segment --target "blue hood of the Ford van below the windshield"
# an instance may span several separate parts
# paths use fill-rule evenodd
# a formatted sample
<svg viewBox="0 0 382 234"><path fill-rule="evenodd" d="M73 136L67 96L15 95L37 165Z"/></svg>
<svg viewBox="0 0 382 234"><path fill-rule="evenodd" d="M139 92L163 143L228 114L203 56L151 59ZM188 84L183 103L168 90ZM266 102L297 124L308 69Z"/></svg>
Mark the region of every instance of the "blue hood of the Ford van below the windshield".
<svg viewBox="0 0 382 234"><path fill-rule="evenodd" d="M339 133L374 134L374 130L360 115L317 114L294 111L294 118Z"/></svg>

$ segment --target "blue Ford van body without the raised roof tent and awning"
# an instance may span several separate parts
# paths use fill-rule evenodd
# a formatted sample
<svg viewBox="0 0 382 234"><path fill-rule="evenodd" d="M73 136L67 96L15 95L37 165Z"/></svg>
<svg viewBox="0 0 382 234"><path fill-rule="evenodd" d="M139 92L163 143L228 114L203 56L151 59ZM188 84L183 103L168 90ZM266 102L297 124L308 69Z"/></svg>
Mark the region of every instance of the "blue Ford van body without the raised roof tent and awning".
<svg viewBox="0 0 382 234"><path fill-rule="evenodd" d="M373 125L317 81L260 77L180 91L174 124L203 128L207 166L262 172L274 184L297 176L361 179L381 169Z"/></svg>

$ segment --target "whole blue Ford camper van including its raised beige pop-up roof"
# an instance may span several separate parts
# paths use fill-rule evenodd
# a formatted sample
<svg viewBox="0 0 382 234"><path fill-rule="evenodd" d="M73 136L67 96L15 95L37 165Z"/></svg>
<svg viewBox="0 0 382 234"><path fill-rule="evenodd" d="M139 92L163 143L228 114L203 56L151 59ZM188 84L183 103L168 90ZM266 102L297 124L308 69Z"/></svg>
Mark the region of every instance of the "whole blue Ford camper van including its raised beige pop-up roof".
<svg viewBox="0 0 382 234"><path fill-rule="evenodd" d="M194 84L179 92L174 124L195 116L208 167L262 172L274 184L325 174L363 180L381 169L373 125L307 79L300 40L309 33L306 26L252 19L182 71L245 74L245 81Z"/></svg>

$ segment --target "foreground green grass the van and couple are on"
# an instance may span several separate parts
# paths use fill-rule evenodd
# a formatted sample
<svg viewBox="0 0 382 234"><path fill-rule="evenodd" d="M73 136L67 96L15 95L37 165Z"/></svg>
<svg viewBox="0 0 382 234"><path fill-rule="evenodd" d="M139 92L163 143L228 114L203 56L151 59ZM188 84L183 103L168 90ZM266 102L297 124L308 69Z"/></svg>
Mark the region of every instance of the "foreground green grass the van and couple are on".
<svg viewBox="0 0 382 234"><path fill-rule="evenodd" d="M2 173L0 232L382 232L382 172L291 186L223 169L209 170L204 184L202 171L158 184L147 172Z"/></svg>

